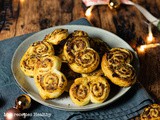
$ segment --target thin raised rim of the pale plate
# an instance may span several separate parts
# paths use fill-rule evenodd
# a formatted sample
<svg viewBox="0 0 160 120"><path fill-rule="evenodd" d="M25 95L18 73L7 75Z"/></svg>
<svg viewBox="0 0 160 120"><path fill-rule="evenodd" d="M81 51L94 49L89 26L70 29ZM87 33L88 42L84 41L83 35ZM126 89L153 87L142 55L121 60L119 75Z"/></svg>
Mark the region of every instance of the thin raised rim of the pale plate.
<svg viewBox="0 0 160 120"><path fill-rule="evenodd" d="M27 37L26 39L24 39L24 41L22 41L22 42L18 45L17 49L15 50L15 52L14 52L14 54L13 54L13 57L12 57L12 60L11 60L11 70L12 70L12 75L14 76L14 80L16 81L16 84L18 85L18 87L19 87L24 93L28 94L28 95L29 95L33 100L35 100L36 102L38 102L38 103L40 103L40 104L42 104L42 105L45 105L45 106L47 106L47 107L50 107L50 108L55 108L55 109L65 110L65 111L90 111L90 110L98 109L98 108L104 107L104 106L106 106L106 105L109 105L109 104L115 102L115 101L118 100L120 97L122 97L124 94L126 94L126 93L130 90L130 88L131 88L132 86L126 87L126 88L125 88L125 91L123 92L123 94L122 94L121 96L116 96L116 97L114 97L114 99L112 98L113 100L112 100L112 101L109 101L109 103L103 102L103 103L101 103L101 104L98 104L96 107L90 106L90 107L88 107L87 109L86 109L84 106L83 106L83 107L79 107L80 109L75 109L75 108L71 108L71 107L67 107L67 108L65 107L65 108L64 108L64 107L61 107L61 106L57 106L57 105L53 105L53 104L46 103L45 101L40 102L39 100L36 99L35 96L29 94L29 93L27 92L27 90L21 86L21 84L18 82L18 80L17 80L17 78L16 78L16 75L14 74L14 68L13 68L14 59L15 59L15 57L16 57L16 53L17 53L17 51L19 50L19 48L20 48L23 44L25 44L25 43L27 43L28 41L30 41L31 38L35 37L35 36L38 35L38 34L41 34L41 33L45 32L46 30L51 30L51 29L54 30L54 29L57 29L57 28L64 28L64 27L71 27L71 28L72 28L72 27L73 27L73 28L74 28L74 27L75 27L75 28L80 27L80 28L89 28L89 29L92 29L92 28L93 28L93 29L97 29L97 30L101 30L101 31L107 32L108 34L110 34L110 35L112 35L112 36L115 36L115 37L118 38L118 39L121 39L123 42L125 42L125 44L127 44L127 45L132 49L132 51L134 51L133 48L132 48L126 41L124 41L122 38L120 38L119 36L117 36L116 34L110 32L110 31L104 30L104 29L102 29L102 28L98 28L98 27L94 27L94 26L87 26L87 25L59 25L59 26L53 26L53 27L50 27L50 28L47 28L47 29L38 31L38 32L34 33L33 35ZM105 42L105 41L104 41L104 42ZM134 51L134 54L135 54L135 56L136 56L136 58L137 58L137 60L138 60L138 63L139 63L138 55L137 55L137 53L136 53L135 51ZM138 64L137 67L139 68L139 67L140 67L140 64ZM138 69L138 70L139 70L139 69Z"/></svg>

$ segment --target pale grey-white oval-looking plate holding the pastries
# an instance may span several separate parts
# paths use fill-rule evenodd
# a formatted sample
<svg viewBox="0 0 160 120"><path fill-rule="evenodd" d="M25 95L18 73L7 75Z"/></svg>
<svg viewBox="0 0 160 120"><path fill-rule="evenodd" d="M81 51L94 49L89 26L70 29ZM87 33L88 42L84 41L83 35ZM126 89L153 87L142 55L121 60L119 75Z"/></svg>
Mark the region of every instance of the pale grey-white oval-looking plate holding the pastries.
<svg viewBox="0 0 160 120"><path fill-rule="evenodd" d="M139 69L139 61L137 54L134 52L134 50L121 38L116 36L115 34L108 32L106 30L90 27L90 26L82 26L82 25L64 25L64 26L56 26L49 29L42 30L38 33L35 33L34 35L30 36L24 42L22 42L17 50L15 51L12 63L11 63L11 69L13 72L13 75L16 79L16 82L18 83L18 86L25 91L32 99L35 101L52 108L66 110L66 111L88 111L97 109L103 106L106 106L113 101L120 98L122 95L124 95L131 87L127 88L118 88L115 91L115 88L111 88L111 94L109 98L102 104L88 104L86 106L78 107L74 103L72 103L69 95L63 94L61 97L53 100L43 100L38 94L38 90L34 84L33 78L27 77L24 75L24 73L20 69L20 60L22 56L24 55L25 51L28 49L28 47L35 41L43 40L45 35L51 33L54 29L57 28L64 28L68 29L69 33L73 32L74 30L83 30L89 34L90 37L98 37L105 41L110 47L122 47L127 48L135 54L135 60L134 60L134 66L136 70ZM113 92L114 90L114 92Z"/></svg>

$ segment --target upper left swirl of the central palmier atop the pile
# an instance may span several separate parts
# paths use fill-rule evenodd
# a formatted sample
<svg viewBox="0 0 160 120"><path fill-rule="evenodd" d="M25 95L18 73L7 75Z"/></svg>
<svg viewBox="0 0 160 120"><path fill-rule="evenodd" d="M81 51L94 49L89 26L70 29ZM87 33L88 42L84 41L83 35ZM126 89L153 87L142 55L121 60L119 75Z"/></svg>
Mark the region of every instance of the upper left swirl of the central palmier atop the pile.
<svg viewBox="0 0 160 120"><path fill-rule="evenodd" d="M70 37L64 45L64 56L69 63L74 62L75 53L89 47L89 37Z"/></svg>

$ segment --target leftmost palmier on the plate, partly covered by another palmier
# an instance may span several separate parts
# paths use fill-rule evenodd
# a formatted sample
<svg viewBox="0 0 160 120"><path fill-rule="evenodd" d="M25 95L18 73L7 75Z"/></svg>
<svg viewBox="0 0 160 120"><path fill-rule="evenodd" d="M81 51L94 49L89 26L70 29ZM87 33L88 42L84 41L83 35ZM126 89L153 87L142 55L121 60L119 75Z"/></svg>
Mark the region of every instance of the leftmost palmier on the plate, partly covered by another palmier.
<svg viewBox="0 0 160 120"><path fill-rule="evenodd" d="M54 48L50 43L44 41L34 42L29 46L20 61L20 68L25 75L33 77L34 66L41 56L53 55Z"/></svg>

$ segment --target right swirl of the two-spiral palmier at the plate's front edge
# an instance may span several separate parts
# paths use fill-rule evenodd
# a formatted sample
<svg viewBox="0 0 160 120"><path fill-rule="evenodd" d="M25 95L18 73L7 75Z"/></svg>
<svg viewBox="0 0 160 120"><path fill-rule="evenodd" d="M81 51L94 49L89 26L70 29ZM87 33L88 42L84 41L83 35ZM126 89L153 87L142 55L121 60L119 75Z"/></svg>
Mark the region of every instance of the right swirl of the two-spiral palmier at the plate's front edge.
<svg viewBox="0 0 160 120"><path fill-rule="evenodd" d="M88 79L91 102L103 103L110 93L110 85L108 81L101 76L91 76L88 77Z"/></svg>

